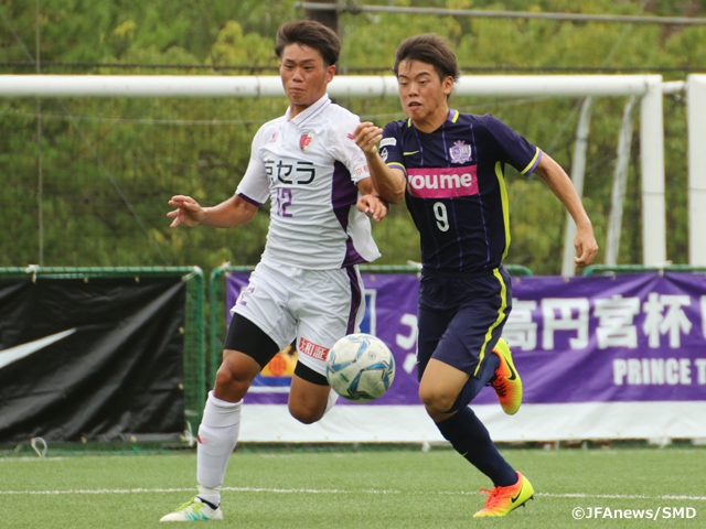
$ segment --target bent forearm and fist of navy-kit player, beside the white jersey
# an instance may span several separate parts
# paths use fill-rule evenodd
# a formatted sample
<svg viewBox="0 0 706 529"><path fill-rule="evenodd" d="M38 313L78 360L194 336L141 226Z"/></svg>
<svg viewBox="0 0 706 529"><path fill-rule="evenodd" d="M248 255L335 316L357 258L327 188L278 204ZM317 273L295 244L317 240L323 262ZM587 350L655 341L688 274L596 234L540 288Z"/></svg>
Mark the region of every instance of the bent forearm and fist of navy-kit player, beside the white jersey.
<svg viewBox="0 0 706 529"><path fill-rule="evenodd" d="M388 203L398 204L405 197L405 173L389 169L379 158L377 143L383 138L383 129L364 121L356 127L354 138L365 153L375 191Z"/></svg>

